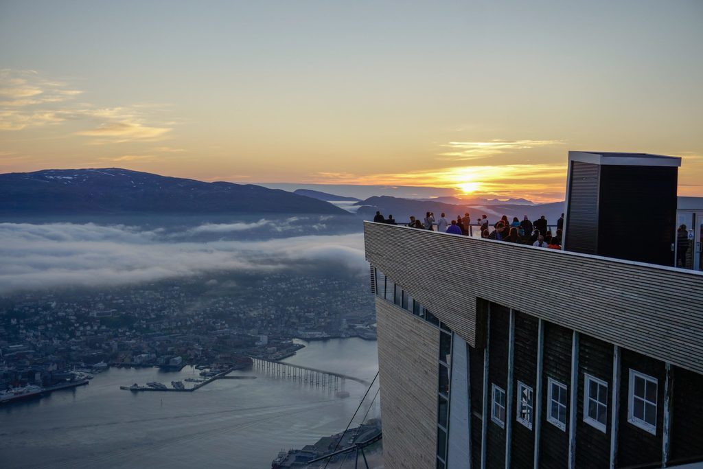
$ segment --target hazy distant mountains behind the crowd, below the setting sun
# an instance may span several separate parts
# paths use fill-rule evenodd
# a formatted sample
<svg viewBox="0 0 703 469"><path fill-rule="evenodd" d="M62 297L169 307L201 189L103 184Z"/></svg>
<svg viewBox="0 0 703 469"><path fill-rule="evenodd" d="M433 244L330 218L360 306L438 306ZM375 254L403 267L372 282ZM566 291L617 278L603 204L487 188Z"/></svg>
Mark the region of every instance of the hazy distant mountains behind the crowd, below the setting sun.
<svg viewBox="0 0 703 469"><path fill-rule="evenodd" d="M423 219L426 212L434 212L435 218L439 218L439 214L444 212L447 219L456 219L457 215L463 217L468 212L473 222L476 222L476 219L481 217L482 214L486 214L491 221L498 221L503 215L510 217L510 221L512 221L512 217L522 220L525 215L532 221L544 215L550 224L556 224L557 219L564 212L563 202L538 205L506 203L499 205L467 205L442 203L437 202L437 199L405 199L388 195L370 197L357 202L355 205L359 205L359 210L356 213L363 215L366 219L373 218L373 215L378 210L386 218L389 214L392 214L399 223L406 222L411 215Z"/></svg>

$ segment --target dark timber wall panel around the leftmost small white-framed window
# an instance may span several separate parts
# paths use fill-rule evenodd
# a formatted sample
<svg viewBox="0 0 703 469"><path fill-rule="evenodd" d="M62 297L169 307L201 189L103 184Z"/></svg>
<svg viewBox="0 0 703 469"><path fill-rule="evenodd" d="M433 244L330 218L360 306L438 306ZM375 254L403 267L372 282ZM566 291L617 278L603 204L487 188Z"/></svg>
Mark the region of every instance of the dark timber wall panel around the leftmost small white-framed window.
<svg viewBox="0 0 703 469"><path fill-rule="evenodd" d="M486 438L486 461L489 468L505 468L505 428L491 420L492 385L508 392L508 330L510 309L491 303L491 335L489 336L488 391L489 411L488 435ZM505 402L507 407L507 401ZM507 418L507 417L506 417ZM506 422L507 423L507 422Z"/></svg>

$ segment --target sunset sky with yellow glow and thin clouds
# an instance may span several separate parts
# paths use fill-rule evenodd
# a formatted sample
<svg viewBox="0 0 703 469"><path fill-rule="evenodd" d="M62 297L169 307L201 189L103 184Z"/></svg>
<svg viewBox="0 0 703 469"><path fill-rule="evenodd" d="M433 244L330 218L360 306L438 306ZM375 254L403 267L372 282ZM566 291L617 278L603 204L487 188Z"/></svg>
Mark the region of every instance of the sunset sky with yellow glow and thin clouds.
<svg viewBox="0 0 703 469"><path fill-rule="evenodd" d="M0 0L0 173L563 200L568 150L683 158L703 2Z"/></svg>

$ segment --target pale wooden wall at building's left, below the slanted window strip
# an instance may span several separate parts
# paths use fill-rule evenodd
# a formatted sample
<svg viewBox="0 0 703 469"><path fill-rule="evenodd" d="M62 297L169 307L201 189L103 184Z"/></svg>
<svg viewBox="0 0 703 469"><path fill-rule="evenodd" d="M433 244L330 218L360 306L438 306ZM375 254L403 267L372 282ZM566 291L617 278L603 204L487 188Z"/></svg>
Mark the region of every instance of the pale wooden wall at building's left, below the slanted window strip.
<svg viewBox="0 0 703 469"><path fill-rule="evenodd" d="M376 318L384 467L433 468L439 330L378 297Z"/></svg>

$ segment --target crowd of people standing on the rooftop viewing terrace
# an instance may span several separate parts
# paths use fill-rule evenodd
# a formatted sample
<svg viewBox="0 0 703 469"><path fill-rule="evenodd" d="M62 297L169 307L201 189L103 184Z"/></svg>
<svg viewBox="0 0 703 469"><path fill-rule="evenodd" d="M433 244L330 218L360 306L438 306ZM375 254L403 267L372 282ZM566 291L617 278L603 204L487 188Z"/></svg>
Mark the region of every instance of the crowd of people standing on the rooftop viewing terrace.
<svg viewBox="0 0 703 469"><path fill-rule="evenodd" d="M398 224L393 215L389 215L386 219L381 212L376 212L373 221L392 225ZM481 233L481 238L531 245L538 248L561 249L564 214L562 213L562 216L557 220L555 233L552 233L549 229L544 215L534 221L530 221L527 215L524 216L522 221L517 217L512 217L512 221L510 221L507 215L503 215L500 220L491 225L489 218L485 214L481 218L477 218L475 224L472 224L468 213L465 213L463 217L458 215L456 219L447 219L443 213L439 219L435 219L434 213L427 212L423 220L410 217L410 221L408 221L406 226L421 230L435 231L436 229L436 231L441 231L442 233L462 236L472 236L473 229L476 227ZM491 227L493 228L492 230Z"/></svg>

